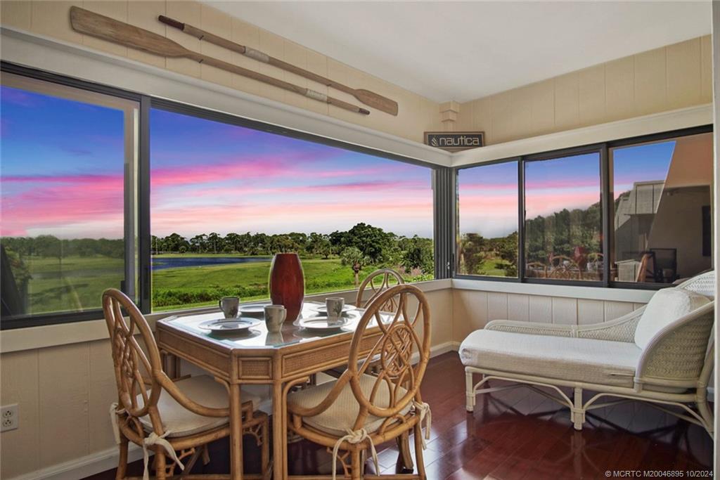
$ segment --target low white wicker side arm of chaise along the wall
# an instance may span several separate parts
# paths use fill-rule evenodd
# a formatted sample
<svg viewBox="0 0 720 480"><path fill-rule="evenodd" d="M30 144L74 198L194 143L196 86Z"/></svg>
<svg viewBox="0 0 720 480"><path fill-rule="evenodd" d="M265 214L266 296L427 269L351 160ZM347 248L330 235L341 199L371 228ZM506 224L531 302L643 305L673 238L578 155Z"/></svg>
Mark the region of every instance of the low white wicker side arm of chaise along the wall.
<svg viewBox="0 0 720 480"><path fill-rule="evenodd" d="M492 322L485 325L485 330L526 333L528 335L551 335L554 337L593 338L613 342L633 342L635 328L643 310L644 307L610 322L592 323L590 325L554 325L540 322L492 320Z"/></svg>

